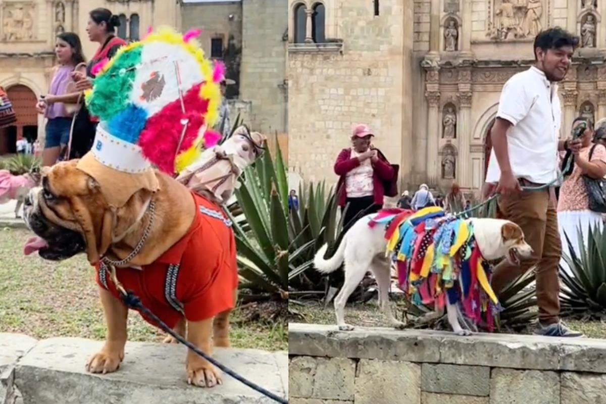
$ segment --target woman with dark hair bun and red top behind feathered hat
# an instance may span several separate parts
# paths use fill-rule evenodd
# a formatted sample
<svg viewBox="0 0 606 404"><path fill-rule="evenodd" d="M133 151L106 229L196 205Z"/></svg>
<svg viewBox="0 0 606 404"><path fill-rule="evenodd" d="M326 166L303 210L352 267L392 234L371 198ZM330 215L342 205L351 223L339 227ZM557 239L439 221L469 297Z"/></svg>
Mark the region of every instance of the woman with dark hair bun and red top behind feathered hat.
<svg viewBox="0 0 606 404"><path fill-rule="evenodd" d="M88 39L92 42L97 42L99 48L95 52L95 56L88 62L86 73L73 73L72 78L76 81L76 90L84 91L93 87L91 79L95 78L93 67L105 59L112 59L119 48L126 45L123 39L115 36L116 27L120 26L120 19L117 15L112 15L112 12L107 8L95 8L88 13L88 24L86 31ZM88 150L93 146L95 139L96 127L98 119L90 116L84 104L76 117L74 133L72 139L72 147L69 158L78 158L88 153Z"/></svg>

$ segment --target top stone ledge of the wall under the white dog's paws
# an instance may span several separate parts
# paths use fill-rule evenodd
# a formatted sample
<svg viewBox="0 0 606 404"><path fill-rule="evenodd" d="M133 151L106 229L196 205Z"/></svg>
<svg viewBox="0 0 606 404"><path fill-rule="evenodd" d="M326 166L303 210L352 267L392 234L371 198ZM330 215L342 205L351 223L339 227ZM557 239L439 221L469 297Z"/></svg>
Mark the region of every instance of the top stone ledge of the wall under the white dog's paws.
<svg viewBox="0 0 606 404"><path fill-rule="evenodd" d="M606 373L606 340L290 323L288 354Z"/></svg>

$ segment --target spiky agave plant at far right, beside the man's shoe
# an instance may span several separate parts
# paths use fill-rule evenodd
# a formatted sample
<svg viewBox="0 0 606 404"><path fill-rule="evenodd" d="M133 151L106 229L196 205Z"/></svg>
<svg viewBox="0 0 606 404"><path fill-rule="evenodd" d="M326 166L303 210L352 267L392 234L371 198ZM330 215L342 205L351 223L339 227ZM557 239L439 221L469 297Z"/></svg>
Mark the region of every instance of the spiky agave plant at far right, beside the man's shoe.
<svg viewBox="0 0 606 404"><path fill-rule="evenodd" d="M568 251L562 256L570 272L559 267L561 314L579 319L606 317L606 236L599 227L590 227L587 237L579 230L579 254L564 234Z"/></svg>

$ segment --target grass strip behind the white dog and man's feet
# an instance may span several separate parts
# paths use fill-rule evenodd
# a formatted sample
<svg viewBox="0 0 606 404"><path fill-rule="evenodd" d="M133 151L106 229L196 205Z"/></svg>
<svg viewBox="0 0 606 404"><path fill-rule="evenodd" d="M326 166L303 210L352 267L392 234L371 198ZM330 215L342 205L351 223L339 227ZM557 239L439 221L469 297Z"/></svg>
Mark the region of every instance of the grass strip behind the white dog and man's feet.
<svg viewBox="0 0 606 404"><path fill-rule="evenodd" d="M391 302L391 308L398 319L402 319L401 303ZM308 301L304 305L290 303L290 309L298 315L293 316L291 321L299 323L316 323L334 325L335 309L332 303L324 306L324 303ZM412 318L412 317L411 317ZM368 303L352 303L345 307L345 322L351 325L364 327L390 327L390 323L379 309L376 299ZM585 337L606 339L606 323L579 320L564 320L572 329L582 331ZM528 333L531 332L531 328Z"/></svg>

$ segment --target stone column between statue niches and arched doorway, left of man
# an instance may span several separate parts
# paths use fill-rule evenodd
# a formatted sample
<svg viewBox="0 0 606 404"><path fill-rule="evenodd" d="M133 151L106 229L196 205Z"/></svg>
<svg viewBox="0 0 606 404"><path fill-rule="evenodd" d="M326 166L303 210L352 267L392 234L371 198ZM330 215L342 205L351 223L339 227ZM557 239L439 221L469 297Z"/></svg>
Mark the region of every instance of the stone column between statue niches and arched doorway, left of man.
<svg viewBox="0 0 606 404"><path fill-rule="evenodd" d="M458 93L459 118L457 119L457 141L459 154L457 156L457 180L462 188L471 188L471 91Z"/></svg>

